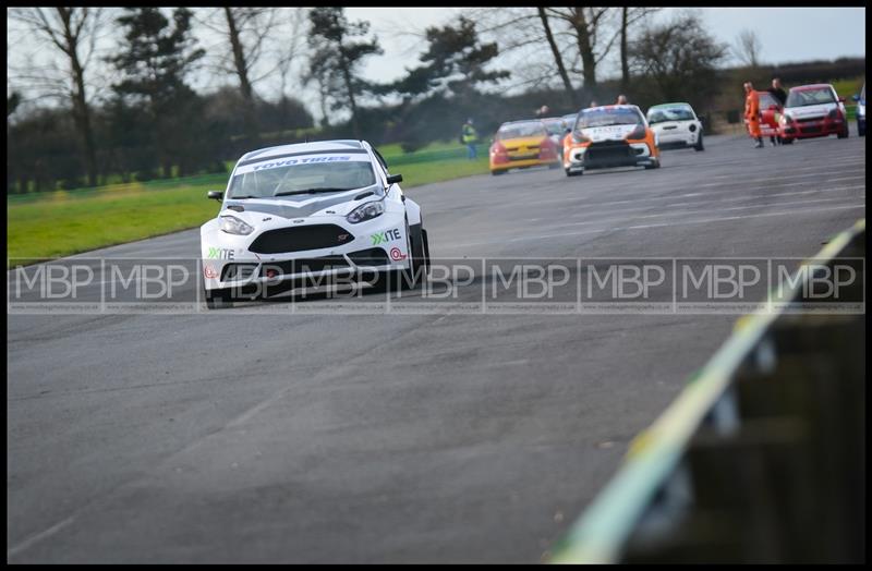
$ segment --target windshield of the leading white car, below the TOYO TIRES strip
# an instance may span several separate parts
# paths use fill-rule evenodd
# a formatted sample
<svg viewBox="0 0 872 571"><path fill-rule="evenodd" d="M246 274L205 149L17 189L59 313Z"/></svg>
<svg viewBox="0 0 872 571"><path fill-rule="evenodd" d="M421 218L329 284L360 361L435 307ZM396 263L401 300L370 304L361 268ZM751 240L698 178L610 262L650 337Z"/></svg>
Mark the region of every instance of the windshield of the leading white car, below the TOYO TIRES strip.
<svg viewBox="0 0 872 571"><path fill-rule="evenodd" d="M312 162L247 170L233 177L228 198L271 198L292 194L351 191L375 184L368 161Z"/></svg>

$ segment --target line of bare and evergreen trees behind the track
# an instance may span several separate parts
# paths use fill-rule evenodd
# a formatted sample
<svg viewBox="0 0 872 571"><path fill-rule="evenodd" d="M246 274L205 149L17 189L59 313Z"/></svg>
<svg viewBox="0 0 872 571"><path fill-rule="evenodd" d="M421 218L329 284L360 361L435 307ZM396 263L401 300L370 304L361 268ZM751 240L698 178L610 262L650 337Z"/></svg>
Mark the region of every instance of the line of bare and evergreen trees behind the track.
<svg viewBox="0 0 872 571"><path fill-rule="evenodd" d="M8 190L225 172L225 161L246 150L306 137L401 142L411 150L455 138L467 118L487 133L542 102L559 114L618 93L643 106L686 100L704 112L722 92L729 46L698 13L653 23L656 11L468 10L423 31L413 63L386 83L364 77L366 61L384 50L370 23L350 20L343 8L11 9L62 64L10 71ZM120 32L111 52L97 53L112 28ZM197 41L195 28L215 44ZM744 40L756 58L754 38ZM619 78L602 76L609 56ZM98 63L111 71L101 90L93 85ZM223 78L218 89L192 86L204 70ZM266 80L279 81L278 97L258 94ZM60 105L16 113L24 97L15 82ZM522 93L508 96L507 85ZM318 94L317 127L287 95L303 87ZM338 112L343 119L334 119Z"/></svg>

